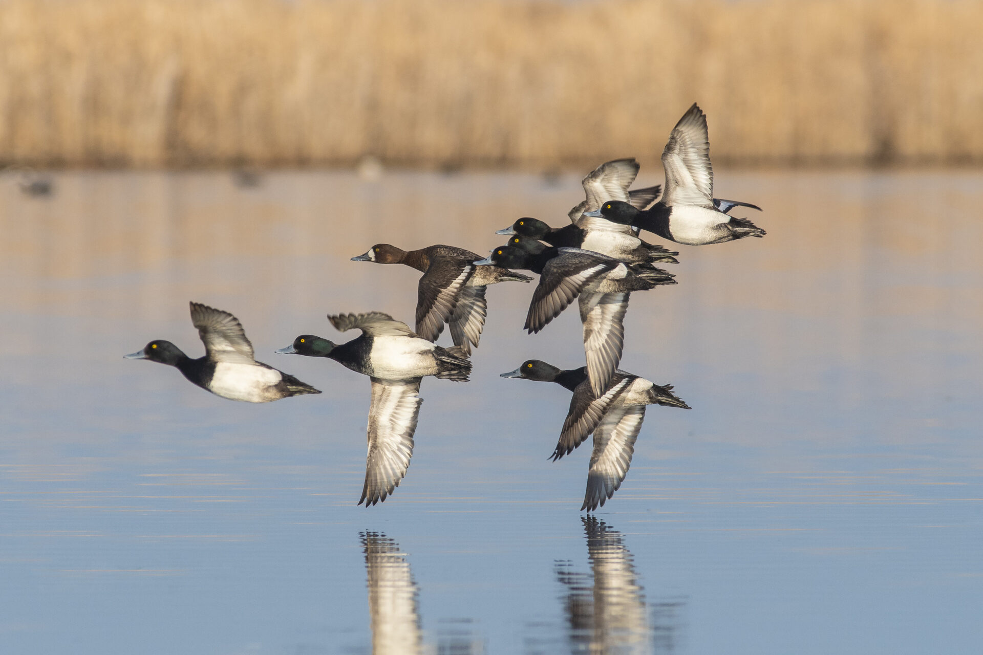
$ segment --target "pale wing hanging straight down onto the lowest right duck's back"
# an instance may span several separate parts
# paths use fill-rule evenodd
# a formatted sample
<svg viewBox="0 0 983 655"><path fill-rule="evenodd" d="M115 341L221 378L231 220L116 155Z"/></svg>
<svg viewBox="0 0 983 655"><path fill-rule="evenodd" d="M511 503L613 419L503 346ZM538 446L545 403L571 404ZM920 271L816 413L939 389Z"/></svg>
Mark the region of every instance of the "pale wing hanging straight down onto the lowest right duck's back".
<svg viewBox="0 0 983 655"><path fill-rule="evenodd" d="M624 348L624 314L631 294L584 294L580 297L580 320L584 324L584 355L587 378L595 396L610 382Z"/></svg>

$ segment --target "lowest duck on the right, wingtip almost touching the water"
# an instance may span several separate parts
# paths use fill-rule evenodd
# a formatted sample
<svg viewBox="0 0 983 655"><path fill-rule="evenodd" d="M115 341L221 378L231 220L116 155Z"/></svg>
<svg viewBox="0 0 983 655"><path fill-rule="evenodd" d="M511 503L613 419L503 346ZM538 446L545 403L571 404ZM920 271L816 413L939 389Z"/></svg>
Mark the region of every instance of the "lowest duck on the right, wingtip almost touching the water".
<svg viewBox="0 0 983 655"><path fill-rule="evenodd" d="M594 433L594 452L581 511L604 507L621 486L631 465L647 405L689 409L672 393L671 385L660 386L623 370L615 371L603 394L592 390L586 366L561 370L540 359L528 359L501 377L555 382L573 392L552 460L570 454Z"/></svg>

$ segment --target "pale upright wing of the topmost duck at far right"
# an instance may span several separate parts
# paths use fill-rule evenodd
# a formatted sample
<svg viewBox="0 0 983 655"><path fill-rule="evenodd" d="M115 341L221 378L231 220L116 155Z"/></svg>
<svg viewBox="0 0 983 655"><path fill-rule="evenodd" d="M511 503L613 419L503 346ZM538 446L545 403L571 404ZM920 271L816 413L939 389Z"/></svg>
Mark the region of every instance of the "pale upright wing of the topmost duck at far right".
<svg viewBox="0 0 983 655"><path fill-rule="evenodd" d="M663 202L714 207L707 117L694 102L669 135L663 150Z"/></svg>

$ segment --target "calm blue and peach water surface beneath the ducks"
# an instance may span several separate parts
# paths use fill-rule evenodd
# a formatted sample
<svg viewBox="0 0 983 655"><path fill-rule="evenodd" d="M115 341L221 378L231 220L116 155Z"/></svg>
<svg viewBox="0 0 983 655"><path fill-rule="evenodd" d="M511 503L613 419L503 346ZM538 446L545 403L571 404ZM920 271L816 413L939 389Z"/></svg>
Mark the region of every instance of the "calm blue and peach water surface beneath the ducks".
<svg viewBox="0 0 983 655"><path fill-rule="evenodd" d="M589 446L547 461L568 392L497 375L583 363L575 310L520 329L531 287L489 289L472 382L424 381L374 508L369 381L272 353L336 338L327 312L412 322L417 273L352 255L562 225L576 176L0 178L0 650L980 652L983 176L718 178L769 235L680 246L679 284L632 298L621 367L693 409L649 409L590 518ZM188 300L324 393L232 403L122 358L200 355Z"/></svg>

